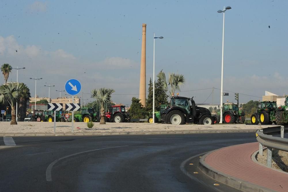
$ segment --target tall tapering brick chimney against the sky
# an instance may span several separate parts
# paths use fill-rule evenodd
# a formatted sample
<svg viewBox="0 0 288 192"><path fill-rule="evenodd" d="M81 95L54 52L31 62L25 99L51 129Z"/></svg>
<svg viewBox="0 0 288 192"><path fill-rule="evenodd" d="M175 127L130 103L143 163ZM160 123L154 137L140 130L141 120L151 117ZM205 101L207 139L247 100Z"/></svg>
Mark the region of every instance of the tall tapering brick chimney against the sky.
<svg viewBox="0 0 288 192"><path fill-rule="evenodd" d="M141 49L141 68L140 68L140 103L146 106L146 23L142 23L142 49Z"/></svg>

